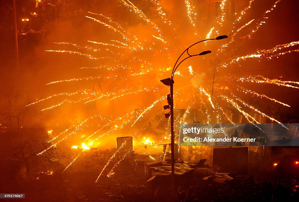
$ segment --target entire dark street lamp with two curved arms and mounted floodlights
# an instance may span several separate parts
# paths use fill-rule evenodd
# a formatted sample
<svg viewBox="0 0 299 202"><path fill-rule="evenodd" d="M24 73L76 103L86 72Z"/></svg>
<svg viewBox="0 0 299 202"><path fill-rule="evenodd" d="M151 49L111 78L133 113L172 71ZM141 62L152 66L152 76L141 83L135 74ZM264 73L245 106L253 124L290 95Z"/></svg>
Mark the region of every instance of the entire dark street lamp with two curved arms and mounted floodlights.
<svg viewBox="0 0 299 202"><path fill-rule="evenodd" d="M216 38L205 39L205 40L202 40L202 41L198 41L195 44L192 44L186 50L184 50L184 52L181 53L181 55L179 56L179 58L176 60L176 63L174 64L174 67L173 67L173 70L172 70L172 73L171 73L171 77L161 80L161 82L163 84L165 84L167 86L170 86L170 94L167 95L167 101L168 101L168 104L170 106L170 112L167 113L167 114L165 114L165 118L168 118L170 116L170 130L171 130L171 143L170 143L170 145L171 145L171 187L172 187L172 195L174 195L174 193L175 193L175 191L174 191L174 186L175 186L175 183L174 183L174 161L175 160L174 160L174 117L173 117L173 84L174 84L174 80L173 80L173 76L174 76L174 73L176 72L176 69L179 67L179 65L183 61L185 61L186 59L191 58L193 56L206 55L208 53L211 53L210 50L207 50L207 51L203 51L202 53L199 53L199 54L190 55L189 48L191 48L194 45L196 45L196 44L198 44L200 42L203 42L203 41L220 40L220 39L224 39L224 38L228 38L228 36L222 35L222 36L218 36ZM181 58L181 56L184 53L187 53L188 56L179 62L179 59ZM164 110L165 109L169 109L169 107L167 107L167 105L165 105L164 106Z"/></svg>

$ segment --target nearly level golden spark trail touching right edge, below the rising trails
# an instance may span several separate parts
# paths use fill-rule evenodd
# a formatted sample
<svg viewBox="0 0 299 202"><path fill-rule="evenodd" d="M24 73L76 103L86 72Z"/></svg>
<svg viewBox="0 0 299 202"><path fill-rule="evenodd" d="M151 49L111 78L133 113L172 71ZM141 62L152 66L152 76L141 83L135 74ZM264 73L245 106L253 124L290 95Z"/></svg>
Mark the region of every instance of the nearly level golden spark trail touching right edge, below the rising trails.
<svg viewBox="0 0 299 202"><path fill-rule="evenodd" d="M260 78L260 79L257 79ZM277 86L285 86L285 87L290 87L290 88L298 88L297 86L292 86L286 83L294 83L294 84L299 84L299 82L296 81L281 81L278 79L269 79L269 78L265 78L261 75L257 75L255 77L252 76L248 76L248 77L241 77L241 78L237 78L236 81L247 81L247 82L252 82L252 83L261 83L261 84L275 84Z"/></svg>

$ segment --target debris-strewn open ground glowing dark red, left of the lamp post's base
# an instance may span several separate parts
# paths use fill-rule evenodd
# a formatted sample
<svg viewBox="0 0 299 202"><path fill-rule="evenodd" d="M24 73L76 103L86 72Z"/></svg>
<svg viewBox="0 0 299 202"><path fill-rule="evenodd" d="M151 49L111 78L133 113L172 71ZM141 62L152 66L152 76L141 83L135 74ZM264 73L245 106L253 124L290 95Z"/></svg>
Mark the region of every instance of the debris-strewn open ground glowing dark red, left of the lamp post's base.
<svg viewBox="0 0 299 202"><path fill-rule="evenodd" d="M25 193L25 199L4 201L152 201L143 174L143 164L123 161L107 173L116 163L112 161L95 183L97 176L112 153L109 150L87 151L64 172L53 175L39 174L36 177L12 181L1 187L1 193ZM99 160L100 159L100 160ZM64 169L69 161L65 162ZM1 200L1 199L0 199Z"/></svg>

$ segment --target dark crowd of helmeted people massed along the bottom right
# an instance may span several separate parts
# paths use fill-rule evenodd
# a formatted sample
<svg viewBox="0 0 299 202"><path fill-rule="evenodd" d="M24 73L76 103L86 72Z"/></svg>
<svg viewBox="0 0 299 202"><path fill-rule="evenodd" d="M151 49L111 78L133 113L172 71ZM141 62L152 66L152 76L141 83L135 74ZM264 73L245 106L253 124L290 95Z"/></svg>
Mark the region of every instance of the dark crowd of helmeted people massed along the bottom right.
<svg viewBox="0 0 299 202"><path fill-rule="evenodd" d="M282 184L272 184L270 181L256 183L253 175L236 176L222 184L216 181L193 179L191 186L178 189L178 199L181 202L246 202L246 201L299 201L299 188L291 189Z"/></svg>

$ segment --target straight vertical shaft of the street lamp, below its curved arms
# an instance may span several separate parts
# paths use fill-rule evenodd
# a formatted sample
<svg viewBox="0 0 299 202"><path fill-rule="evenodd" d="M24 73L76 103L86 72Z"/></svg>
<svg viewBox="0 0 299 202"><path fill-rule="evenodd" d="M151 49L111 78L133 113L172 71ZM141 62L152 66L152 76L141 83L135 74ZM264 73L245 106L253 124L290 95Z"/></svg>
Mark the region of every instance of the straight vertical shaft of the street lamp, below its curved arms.
<svg viewBox="0 0 299 202"><path fill-rule="evenodd" d="M173 116L173 83L172 80L170 85L170 130L171 130L171 192L172 195L175 195L175 181L174 181L174 116Z"/></svg>

